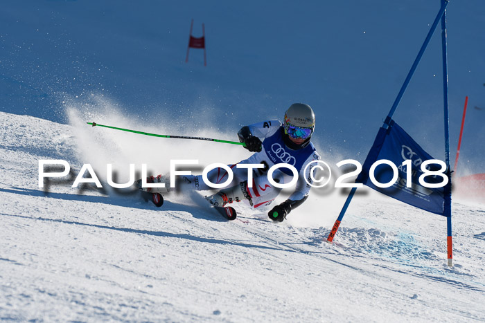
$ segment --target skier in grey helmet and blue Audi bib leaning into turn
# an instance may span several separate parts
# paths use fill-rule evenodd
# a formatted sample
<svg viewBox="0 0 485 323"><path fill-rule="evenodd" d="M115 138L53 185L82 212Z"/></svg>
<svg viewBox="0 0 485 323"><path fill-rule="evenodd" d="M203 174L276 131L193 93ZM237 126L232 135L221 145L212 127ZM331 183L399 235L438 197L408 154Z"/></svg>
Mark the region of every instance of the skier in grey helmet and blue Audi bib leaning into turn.
<svg viewBox="0 0 485 323"><path fill-rule="evenodd" d="M238 132L240 142L245 148L254 152L252 156L241 160L238 164L263 164L264 168L254 169L252 185L247 183L247 169L238 168L236 164L229 165L233 171L233 181L220 192L207 196L206 199L214 206L224 207L228 203L246 201L254 208L270 205L281 188L274 187L267 179L267 170L273 165L287 163L294 166L299 174L296 188L286 201L276 205L268 212L273 221L283 221L295 207L301 205L310 192L312 165L306 167L312 160L319 160L317 150L310 142L315 130L315 113L308 104L294 103L285 113L283 124L279 120L270 120L245 126ZM288 168L278 168L272 175L276 183L289 183L293 173ZM211 183L224 183L227 172L223 168L212 169L207 178ZM306 180L305 180L306 179ZM170 176L151 177L150 183L166 183L166 189L148 189L149 192L169 192ZM308 181L308 183L306 182ZM141 180L139 181L139 187ZM204 183L202 175L182 176L182 181L176 185L180 190L213 190ZM249 187L252 186L252 187ZM147 190L147 189L143 189Z"/></svg>

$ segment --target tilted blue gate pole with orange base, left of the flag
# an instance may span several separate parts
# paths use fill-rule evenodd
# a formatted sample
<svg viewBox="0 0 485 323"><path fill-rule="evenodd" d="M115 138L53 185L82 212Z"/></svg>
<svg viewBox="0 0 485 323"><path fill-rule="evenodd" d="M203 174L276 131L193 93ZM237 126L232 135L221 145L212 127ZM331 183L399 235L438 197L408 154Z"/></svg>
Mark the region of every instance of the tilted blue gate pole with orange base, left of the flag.
<svg viewBox="0 0 485 323"><path fill-rule="evenodd" d="M416 67L418 67L419 61L421 61L421 57L423 57L423 54L424 54L424 52L427 48L427 45L430 44L431 37L434 33L434 30L436 30L436 27L438 26L439 21L441 20L441 17L443 17L443 13L446 10L446 6L448 6L448 0L441 0L441 1L442 1L441 8L439 9L438 15L436 15L436 18L433 21L433 24L430 28L430 31L427 33L427 36L426 36L425 41L423 43L423 46L421 46L421 49L419 50L419 53L416 56L416 59L414 59L414 63L411 66L411 70L409 71L409 73L407 73L406 80L404 81L403 86L401 86L400 91L398 93L398 96L396 97L396 100L394 100L394 104L392 104L391 111L389 111L389 114L387 115L387 118L384 122L384 125L382 126L386 129L387 129L387 124L391 120L392 115L394 114L394 111L396 111L401 98L403 98L403 95L404 95L404 93L407 89L407 85L411 81L412 75L414 74L414 71L416 71ZM447 84L447 86L448 86L448 84ZM447 98L448 98L448 96L447 96ZM448 153L448 155L449 155L449 153ZM344 207L342 207L342 210L340 211L340 214L339 214L337 220L335 221L335 224L333 225L332 230L328 234L327 241L329 243L331 243L332 240L333 240L333 237L335 237L335 233L337 232L337 230L340 226L340 222L342 222L342 219L344 218L345 212L347 211L347 208L349 207L349 205L352 201L353 195L355 194L356 190L357 190L356 187L352 188L351 192L349 193L349 196L347 197L347 199L345 201ZM451 225L450 225L449 228L451 228Z"/></svg>

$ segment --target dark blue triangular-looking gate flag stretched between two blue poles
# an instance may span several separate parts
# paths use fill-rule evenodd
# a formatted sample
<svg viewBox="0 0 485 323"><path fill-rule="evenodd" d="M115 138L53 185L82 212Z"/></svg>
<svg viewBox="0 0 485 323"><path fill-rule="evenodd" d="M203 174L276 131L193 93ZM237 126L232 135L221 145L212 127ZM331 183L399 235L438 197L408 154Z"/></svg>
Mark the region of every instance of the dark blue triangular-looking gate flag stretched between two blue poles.
<svg viewBox="0 0 485 323"><path fill-rule="evenodd" d="M394 120L390 120L388 124L387 129L383 127L379 129L376 140L374 140L362 166L362 172L360 172L355 183L367 185L373 190L422 210L444 215L444 187L427 188L418 182L419 176L423 174L421 163L434 158L427 154ZM373 163L382 159L391 160L398 167L397 181L387 188L377 187L369 178L369 170ZM406 187L407 167L402 165L407 159L412 160L412 187ZM441 166L437 164L427 166L429 170L439 170L440 168ZM393 174L392 168L385 164L379 165L374 171L374 177L379 183L389 183ZM441 183L443 178L426 176L424 181L426 183Z"/></svg>

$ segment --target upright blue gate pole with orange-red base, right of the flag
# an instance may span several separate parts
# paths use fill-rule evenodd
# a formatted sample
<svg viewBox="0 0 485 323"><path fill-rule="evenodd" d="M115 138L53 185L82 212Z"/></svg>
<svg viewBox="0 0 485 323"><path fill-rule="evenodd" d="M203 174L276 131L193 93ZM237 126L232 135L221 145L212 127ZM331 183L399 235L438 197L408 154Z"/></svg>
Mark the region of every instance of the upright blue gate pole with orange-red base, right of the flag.
<svg viewBox="0 0 485 323"><path fill-rule="evenodd" d="M446 6L448 0L441 0L441 6ZM443 205L443 215L446 216L447 228L447 253L448 266L453 266L453 244L451 233L451 167L450 167L450 121L448 117L448 57L446 50L446 10L441 17L441 51L443 52L443 102L444 102L444 116L445 116L445 160L446 160L446 176L448 176L448 184L445 187Z"/></svg>

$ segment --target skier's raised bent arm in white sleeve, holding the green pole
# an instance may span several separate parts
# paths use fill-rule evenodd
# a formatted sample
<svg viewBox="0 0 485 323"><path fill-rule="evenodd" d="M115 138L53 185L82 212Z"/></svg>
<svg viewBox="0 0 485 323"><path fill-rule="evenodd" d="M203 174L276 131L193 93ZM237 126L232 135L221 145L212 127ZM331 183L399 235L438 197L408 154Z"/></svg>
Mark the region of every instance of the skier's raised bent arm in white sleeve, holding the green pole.
<svg viewBox="0 0 485 323"><path fill-rule="evenodd" d="M258 122L249 126L244 126L238 132L240 142L246 144L249 151L261 151L261 139L272 136L281 127L279 120Z"/></svg>

